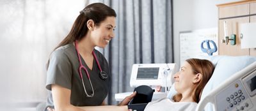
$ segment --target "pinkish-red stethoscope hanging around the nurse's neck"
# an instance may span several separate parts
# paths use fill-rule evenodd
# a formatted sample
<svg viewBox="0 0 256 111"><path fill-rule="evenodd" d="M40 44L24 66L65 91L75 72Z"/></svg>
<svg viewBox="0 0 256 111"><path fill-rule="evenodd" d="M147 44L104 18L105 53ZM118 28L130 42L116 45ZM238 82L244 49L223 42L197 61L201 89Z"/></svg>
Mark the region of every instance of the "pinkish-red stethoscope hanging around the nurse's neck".
<svg viewBox="0 0 256 111"><path fill-rule="evenodd" d="M77 56L78 56L78 59L79 59L79 63L80 63L80 66L79 66L79 75L80 75L80 78L82 80L82 83L83 83L83 87L84 87L84 92L86 94L87 97L93 97L94 96L94 89L92 87L92 82L91 82L91 79L90 79L90 75L88 73L88 70L83 66L82 64L82 61L81 61L81 57L80 57L80 54L79 54L79 51L77 50L77 41L75 41L75 47L76 47L76 52L77 52ZM108 78L108 74L105 72L105 71L102 71L101 67L100 67L100 63L95 55L95 52L92 51L92 55L93 55L93 58L95 59L96 63L97 63L97 66L100 70L100 75L99 77L102 79L102 80L106 80ZM82 75L82 70L84 70L86 72L86 75L88 77L88 80L90 82L90 85L91 85L91 88L92 88L92 94L88 94L86 89L85 89L85 86L84 86L84 80L83 80L83 75Z"/></svg>

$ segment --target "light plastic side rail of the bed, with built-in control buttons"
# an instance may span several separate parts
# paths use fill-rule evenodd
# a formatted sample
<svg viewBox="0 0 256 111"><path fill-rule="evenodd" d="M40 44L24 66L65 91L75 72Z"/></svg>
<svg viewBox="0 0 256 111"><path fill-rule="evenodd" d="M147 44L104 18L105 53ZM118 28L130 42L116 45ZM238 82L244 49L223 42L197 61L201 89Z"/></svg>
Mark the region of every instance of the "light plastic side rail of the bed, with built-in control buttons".
<svg viewBox="0 0 256 111"><path fill-rule="evenodd" d="M256 110L256 62L227 78L198 103L196 110L204 110L212 103L214 110Z"/></svg>

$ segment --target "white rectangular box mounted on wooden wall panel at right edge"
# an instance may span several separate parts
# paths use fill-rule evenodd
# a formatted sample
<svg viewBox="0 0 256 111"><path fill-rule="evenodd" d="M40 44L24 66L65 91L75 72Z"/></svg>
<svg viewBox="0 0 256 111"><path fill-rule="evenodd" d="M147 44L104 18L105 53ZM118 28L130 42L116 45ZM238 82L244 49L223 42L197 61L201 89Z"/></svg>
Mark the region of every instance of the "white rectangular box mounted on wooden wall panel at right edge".
<svg viewBox="0 0 256 111"><path fill-rule="evenodd" d="M256 48L256 22L240 25L241 48Z"/></svg>

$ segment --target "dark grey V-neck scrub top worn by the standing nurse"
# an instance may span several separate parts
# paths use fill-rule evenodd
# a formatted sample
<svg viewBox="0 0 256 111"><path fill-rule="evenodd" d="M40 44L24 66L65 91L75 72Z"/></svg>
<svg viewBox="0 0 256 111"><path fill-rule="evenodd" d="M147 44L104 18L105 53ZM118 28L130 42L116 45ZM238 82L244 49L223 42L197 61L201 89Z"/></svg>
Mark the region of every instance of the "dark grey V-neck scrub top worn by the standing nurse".
<svg viewBox="0 0 256 111"><path fill-rule="evenodd" d="M47 70L46 88L49 90L47 98L47 106L53 107L51 84L57 84L71 90L70 103L74 106L95 106L101 105L109 93L110 88L110 72L108 62L99 51L93 50L99 61L100 67L108 74L106 80L102 80L100 70L97 66L95 59L93 59L93 68L90 70L83 58L81 61L83 66L88 70L92 86L94 89L94 96L92 98L86 97L84 92L83 83L79 77L79 59L75 46L70 43L63 47L56 49L51 54L49 68ZM88 94L92 94L90 82L86 73L83 71L84 86Z"/></svg>

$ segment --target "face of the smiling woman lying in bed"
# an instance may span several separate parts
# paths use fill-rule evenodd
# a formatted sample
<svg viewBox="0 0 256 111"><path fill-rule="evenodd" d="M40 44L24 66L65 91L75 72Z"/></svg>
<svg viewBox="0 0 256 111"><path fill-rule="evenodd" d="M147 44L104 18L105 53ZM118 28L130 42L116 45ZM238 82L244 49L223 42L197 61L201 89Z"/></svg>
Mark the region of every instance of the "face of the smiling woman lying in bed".
<svg viewBox="0 0 256 111"><path fill-rule="evenodd" d="M188 62L185 62L180 68L180 71L175 73L173 77L175 80L175 90L178 93L191 91L189 89L191 89L193 86L193 79L195 78L195 74L193 73L192 67Z"/></svg>

